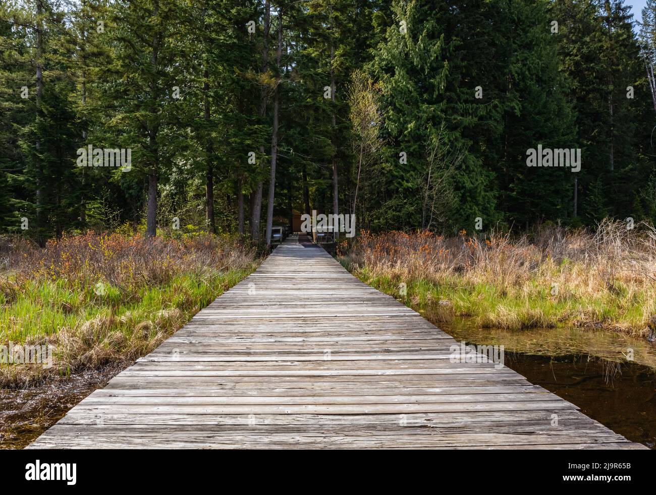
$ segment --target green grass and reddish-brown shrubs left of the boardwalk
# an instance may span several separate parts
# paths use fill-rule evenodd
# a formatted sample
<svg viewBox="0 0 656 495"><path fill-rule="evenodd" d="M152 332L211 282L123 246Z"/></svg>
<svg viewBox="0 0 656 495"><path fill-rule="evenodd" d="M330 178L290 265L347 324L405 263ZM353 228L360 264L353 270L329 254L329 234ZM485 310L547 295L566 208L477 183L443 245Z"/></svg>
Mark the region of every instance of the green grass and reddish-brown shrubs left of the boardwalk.
<svg viewBox="0 0 656 495"><path fill-rule="evenodd" d="M234 237L0 239L0 344L50 344L54 366L0 365L0 385L134 360L257 265Z"/></svg>

